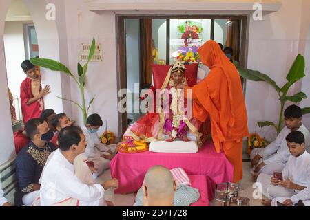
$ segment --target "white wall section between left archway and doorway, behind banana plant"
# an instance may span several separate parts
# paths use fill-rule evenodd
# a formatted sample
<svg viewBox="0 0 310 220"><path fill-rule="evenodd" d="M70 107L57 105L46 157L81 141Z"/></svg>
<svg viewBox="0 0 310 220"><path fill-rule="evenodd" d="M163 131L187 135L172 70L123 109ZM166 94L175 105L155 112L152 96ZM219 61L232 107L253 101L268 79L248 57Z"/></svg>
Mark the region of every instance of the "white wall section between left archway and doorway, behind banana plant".
<svg viewBox="0 0 310 220"><path fill-rule="evenodd" d="M86 9L83 0L65 1L68 43L68 65L76 72L76 63L79 61L81 43L90 43L92 37L101 43L103 61L90 63L87 72L86 98L90 100L96 95L91 113L99 113L107 119L108 129L119 133L117 109L117 76L116 76L116 25L114 12L96 14ZM71 80L72 83L72 80ZM71 98L79 101L79 89L71 84ZM72 118L83 125L81 112L72 105ZM101 128L103 131L103 128Z"/></svg>

